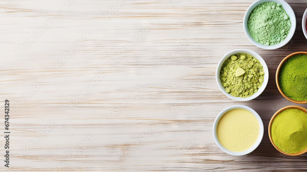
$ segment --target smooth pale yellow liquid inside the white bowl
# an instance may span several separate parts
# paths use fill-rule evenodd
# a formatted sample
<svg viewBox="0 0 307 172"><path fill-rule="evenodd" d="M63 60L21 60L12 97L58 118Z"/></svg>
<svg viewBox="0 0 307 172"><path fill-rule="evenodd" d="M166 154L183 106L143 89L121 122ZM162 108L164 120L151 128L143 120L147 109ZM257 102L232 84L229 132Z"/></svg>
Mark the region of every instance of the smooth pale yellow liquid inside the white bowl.
<svg viewBox="0 0 307 172"><path fill-rule="evenodd" d="M217 125L217 138L230 151L246 151L254 145L258 135L258 120L244 109L226 112Z"/></svg>

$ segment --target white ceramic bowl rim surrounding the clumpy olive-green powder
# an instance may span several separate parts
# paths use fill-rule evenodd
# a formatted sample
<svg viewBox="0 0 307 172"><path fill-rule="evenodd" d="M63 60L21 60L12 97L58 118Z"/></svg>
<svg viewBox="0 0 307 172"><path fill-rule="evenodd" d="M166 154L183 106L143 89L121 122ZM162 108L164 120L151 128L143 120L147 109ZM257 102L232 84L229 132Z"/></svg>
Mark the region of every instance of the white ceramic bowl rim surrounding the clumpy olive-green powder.
<svg viewBox="0 0 307 172"><path fill-rule="evenodd" d="M263 83L262 83L262 86L261 88L258 89L258 91L250 96L250 97L246 97L246 98L242 98L242 97L235 97L235 96L231 96L229 93L226 92L225 88L223 87L222 85L222 82L220 80L220 71L222 69L222 66L224 64L224 62L229 58L231 57L232 55L236 55L236 54L240 54L240 53L246 53L246 54L250 54L252 56L254 56L262 65L263 67L263 72L264 72L264 80L263 80ZM233 50L229 53L227 53L219 62L219 64L217 65L217 68L216 68L216 82L217 82L217 85L219 86L220 90L229 98L233 99L233 100L237 100L237 101L248 101L248 100L253 100L255 99L256 97L258 97L263 91L264 89L266 88L266 85L269 81L269 70L268 70L268 67L266 66L266 62L262 59L261 56L259 56L259 54L251 51L251 50L248 50L248 49L236 49L236 50Z"/></svg>

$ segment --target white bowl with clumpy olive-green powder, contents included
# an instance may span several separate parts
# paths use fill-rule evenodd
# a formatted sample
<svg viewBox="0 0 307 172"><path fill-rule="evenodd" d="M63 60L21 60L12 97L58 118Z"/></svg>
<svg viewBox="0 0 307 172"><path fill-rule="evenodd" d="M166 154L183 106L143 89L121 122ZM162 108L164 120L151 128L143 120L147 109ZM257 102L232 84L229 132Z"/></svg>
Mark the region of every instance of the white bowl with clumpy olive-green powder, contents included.
<svg viewBox="0 0 307 172"><path fill-rule="evenodd" d="M236 49L220 60L216 68L216 81L227 97L248 101L264 91L269 81L269 70L257 53Z"/></svg>

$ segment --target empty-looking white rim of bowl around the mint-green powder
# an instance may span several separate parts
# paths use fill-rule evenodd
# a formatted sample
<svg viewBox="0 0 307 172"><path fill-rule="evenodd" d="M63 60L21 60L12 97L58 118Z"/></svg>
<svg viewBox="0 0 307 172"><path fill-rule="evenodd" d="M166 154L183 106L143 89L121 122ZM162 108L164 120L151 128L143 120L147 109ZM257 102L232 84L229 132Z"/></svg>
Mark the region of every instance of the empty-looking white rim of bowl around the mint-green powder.
<svg viewBox="0 0 307 172"><path fill-rule="evenodd" d="M248 29L247 29L247 21L248 21L248 18L251 14L251 12L260 4L262 3L265 3L265 2L275 2L275 3L278 3L278 4L281 4L282 5L282 8L286 11L286 13L288 14L289 18L290 18L290 21L291 21L291 28L290 28L290 32L288 34L288 36L286 37L286 39L282 42L280 42L279 44L276 44L276 45L269 45L269 46L266 46L266 45L262 45L258 42L256 42L250 35L250 33L248 32ZM247 36L247 38L254 44L256 45L257 47L259 48L262 48L262 49L278 49L284 45L286 45L290 40L291 38L293 37L294 35L294 32L295 32L295 28L296 28L296 18L295 18L295 14L291 8L291 6L285 2L284 0L257 0L255 1L254 3L251 4L251 6L248 7L248 9L246 10L245 12L245 15L244 15L244 19L243 19L243 29L244 29L244 32Z"/></svg>

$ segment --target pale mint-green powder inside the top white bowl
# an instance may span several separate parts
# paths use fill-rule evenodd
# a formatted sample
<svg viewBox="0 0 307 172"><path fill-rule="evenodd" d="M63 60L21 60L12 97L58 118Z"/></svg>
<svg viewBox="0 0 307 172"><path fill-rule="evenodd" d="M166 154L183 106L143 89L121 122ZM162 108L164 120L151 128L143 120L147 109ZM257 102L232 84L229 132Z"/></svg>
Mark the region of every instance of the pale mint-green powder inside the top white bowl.
<svg viewBox="0 0 307 172"><path fill-rule="evenodd" d="M265 2L257 6L248 18L251 37L262 45L276 45L288 36L291 22L282 5Z"/></svg>

